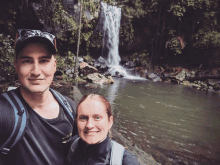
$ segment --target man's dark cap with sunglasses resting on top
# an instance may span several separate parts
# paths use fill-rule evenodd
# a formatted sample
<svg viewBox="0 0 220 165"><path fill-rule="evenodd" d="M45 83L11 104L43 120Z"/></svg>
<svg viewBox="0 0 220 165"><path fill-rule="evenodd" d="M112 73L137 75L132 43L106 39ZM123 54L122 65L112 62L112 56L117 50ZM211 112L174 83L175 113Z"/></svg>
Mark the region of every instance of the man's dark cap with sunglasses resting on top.
<svg viewBox="0 0 220 165"><path fill-rule="evenodd" d="M53 34L40 30L18 29L15 37L16 55L30 42L44 43L52 53L56 53L56 38Z"/></svg>

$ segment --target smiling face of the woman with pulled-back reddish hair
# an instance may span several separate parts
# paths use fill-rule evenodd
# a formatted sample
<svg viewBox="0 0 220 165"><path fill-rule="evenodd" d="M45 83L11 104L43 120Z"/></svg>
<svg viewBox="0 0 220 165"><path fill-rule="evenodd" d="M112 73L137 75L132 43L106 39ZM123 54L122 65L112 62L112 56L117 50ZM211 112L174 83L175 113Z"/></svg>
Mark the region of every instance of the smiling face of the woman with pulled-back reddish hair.
<svg viewBox="0 0 220 165"><path fill-rule="evenodd" d="M88 97L78 107L77 127L79 136L87 144L103 141L112 127L113 116L108 117L105 104L95 96Z"/></svg>

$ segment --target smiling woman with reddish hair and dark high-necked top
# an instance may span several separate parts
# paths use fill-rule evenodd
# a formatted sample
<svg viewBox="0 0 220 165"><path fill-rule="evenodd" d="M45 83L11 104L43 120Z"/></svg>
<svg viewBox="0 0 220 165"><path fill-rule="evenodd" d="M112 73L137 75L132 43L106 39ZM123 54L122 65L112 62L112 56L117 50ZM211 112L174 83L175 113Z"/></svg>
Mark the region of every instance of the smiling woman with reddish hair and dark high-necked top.
<svg viewBox="0 0 220 165"><path fill-rule="evenodd" d="M80 138L71 145L69 165L139 165L136 156L112 142L108 136L113 116L106 98L95 94L85 95L77 106L76 122ZM115 146L119 148L113 149L117 148ZM119 163L115 163L115 160Z"/></svg>

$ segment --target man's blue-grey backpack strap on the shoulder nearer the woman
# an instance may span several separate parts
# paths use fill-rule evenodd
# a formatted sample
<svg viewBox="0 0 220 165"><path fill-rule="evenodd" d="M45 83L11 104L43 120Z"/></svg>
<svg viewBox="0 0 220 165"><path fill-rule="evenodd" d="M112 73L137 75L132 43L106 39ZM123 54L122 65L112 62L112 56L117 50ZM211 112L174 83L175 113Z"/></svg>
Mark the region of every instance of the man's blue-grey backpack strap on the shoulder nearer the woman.
<svg viewBox="0 0 220 165"><path fill-rule="evenodd" d="M54 89L50 88L50 91L52 92L54 97L57 99L57 101L63 106L63 108L67 112L66 114L68 114L71 121L74 123L74 117L73 117L74 111L72 110L72 108L71 108L70 104L68 103L68 101L65 99L65 97L62 94L55 91Z"/></svg>

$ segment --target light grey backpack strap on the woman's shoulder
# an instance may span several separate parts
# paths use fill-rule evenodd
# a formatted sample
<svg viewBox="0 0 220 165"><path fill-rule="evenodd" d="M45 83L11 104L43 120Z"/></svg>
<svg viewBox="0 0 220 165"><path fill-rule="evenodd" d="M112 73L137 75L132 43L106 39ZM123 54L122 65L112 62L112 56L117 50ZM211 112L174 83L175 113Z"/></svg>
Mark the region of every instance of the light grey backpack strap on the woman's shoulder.
<svg viewBox="0 0 220 165"><path fill-rule="evenodd" d="M112 141L110 165L122 165L124 151L125 148L121 144Z"/></svg>

